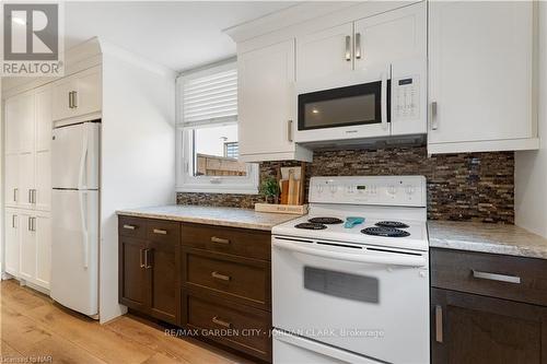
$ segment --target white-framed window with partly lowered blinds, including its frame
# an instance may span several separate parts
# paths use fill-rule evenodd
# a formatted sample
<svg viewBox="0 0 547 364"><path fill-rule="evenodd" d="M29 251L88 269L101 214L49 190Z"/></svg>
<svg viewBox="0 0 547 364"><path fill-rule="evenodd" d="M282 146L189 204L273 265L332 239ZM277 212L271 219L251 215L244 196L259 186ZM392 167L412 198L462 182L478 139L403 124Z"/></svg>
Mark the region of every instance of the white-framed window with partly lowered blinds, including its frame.
<svg viewBox="0 0 547 364"><path fill-rule="evenodd" d="M258 165L238 161L235 61L181 75L177 108L177 191L257 193Z"/></svg>

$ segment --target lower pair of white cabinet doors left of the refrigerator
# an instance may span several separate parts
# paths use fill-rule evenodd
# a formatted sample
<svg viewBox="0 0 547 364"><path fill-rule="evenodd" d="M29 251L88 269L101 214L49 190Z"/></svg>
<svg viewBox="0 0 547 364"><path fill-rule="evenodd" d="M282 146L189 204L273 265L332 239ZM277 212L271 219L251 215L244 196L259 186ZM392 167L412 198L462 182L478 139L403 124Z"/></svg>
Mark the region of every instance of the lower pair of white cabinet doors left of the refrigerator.
<svg viewBox="0 0 547 364"><path fill-rule="evenodd" d="M51 224L49 213L5 210L5 272L49 290Z"/></svg>

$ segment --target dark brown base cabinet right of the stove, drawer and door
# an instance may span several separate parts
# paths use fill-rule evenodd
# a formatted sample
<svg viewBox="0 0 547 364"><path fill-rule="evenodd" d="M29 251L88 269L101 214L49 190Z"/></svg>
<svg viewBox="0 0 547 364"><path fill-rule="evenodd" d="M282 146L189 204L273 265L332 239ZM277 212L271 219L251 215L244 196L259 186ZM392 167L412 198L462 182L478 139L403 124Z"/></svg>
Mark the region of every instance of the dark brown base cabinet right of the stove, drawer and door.
<svg viewBox="0 0 547 364"><path fill-rule="evenodd" d="M547 261L431 250L432 363L547 364Z"/></svg>

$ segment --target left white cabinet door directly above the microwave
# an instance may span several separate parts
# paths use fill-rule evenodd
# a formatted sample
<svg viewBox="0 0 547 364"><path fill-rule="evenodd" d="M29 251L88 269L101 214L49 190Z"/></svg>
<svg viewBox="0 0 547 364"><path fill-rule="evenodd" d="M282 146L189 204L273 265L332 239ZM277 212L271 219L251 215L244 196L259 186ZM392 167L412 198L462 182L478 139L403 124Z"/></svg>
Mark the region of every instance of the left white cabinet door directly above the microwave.
<svg viewBox="0 0 547 364"><path fill-rule="evenodd" d="M296 81L337 77L353 69L353 24L296 37Z"/></svg>

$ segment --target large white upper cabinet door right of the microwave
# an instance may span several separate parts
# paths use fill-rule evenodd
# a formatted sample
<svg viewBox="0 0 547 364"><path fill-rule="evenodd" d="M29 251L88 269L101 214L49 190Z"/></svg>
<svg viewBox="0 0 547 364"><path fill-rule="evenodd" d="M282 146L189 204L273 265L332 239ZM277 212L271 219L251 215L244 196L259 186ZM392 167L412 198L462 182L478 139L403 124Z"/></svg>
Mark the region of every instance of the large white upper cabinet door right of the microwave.
<svg viewBox="0 0 547 364"><path fill-rule="evenodd" d="M429 2L428 142L534 138L533 2Z"/></svg>

